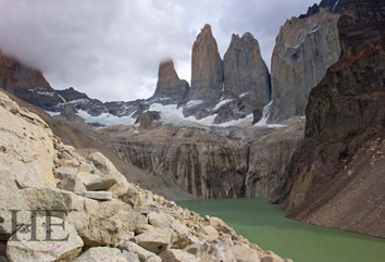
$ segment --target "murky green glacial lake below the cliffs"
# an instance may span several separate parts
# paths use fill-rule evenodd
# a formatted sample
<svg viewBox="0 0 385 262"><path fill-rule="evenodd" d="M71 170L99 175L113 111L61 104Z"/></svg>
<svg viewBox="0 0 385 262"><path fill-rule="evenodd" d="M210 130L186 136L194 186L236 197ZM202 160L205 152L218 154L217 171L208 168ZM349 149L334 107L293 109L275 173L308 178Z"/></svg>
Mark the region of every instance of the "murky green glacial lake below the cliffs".
<svg viewBox="0 0 385 262"><path fill-rule="evenodd" d="M285 217L266 199L178 201L200 215L218 216L238 235L294 262L384 262L385 240Z"/></svg>

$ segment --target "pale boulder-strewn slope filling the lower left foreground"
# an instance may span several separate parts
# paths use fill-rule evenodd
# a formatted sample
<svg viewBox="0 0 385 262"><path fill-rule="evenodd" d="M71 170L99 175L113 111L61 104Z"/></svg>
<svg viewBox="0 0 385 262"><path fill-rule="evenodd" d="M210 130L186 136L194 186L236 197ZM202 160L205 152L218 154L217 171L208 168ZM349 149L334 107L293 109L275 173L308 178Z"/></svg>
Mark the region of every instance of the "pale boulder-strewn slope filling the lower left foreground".
<svg viewBox="0 0 385 262"><path fill-rule="evenodd" d="M103 154L78 154L2 92L0 120L0 261L289 261L128 183Z"/></svg>

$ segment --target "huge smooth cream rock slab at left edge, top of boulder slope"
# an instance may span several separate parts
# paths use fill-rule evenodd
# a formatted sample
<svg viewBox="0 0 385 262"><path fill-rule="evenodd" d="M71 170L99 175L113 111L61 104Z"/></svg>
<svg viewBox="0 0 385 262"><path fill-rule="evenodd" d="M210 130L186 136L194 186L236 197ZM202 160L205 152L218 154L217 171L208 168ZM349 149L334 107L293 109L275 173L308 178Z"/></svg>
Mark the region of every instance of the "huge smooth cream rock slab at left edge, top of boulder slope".
<svg viewBox="0 0 385 262"><path fill-rule="evenodd" d="M11 100L1 92L0 101ZM0 107L0 166L7 166L21 187L55 187L53 135L48 125L24 109L14 114Z"/></svg>

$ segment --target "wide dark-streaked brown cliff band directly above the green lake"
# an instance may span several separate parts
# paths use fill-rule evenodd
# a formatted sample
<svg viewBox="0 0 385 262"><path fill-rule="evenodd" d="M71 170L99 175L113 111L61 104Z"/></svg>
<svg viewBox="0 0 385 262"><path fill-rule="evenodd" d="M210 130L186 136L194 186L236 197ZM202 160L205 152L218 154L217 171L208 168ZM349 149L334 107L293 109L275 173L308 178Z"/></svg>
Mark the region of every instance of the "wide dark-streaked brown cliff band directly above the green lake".
<svg viewBox="0 0 385 262"><path fill-rule="evenodd" d="M171 126L100 134L125 162L173 179L194 196L270 197L302 139L303 122L282 129L252 127L245 134Z"/></svg>

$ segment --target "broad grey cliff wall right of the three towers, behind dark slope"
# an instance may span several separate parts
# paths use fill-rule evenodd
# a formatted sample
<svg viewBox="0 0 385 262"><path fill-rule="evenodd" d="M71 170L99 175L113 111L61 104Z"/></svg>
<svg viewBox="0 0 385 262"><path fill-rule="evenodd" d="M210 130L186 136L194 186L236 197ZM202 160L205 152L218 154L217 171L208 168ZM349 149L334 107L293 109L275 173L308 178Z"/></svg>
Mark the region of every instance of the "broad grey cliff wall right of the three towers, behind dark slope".
<svg viewBox="0 0 385 262"><path fill-rule="evenodd" d="M337 1L322 1L281 28L272 57L270 122L305 115L310 90L339 59Z"/></svg>

